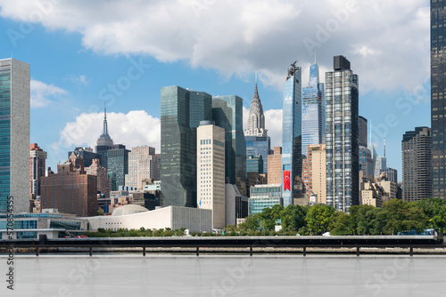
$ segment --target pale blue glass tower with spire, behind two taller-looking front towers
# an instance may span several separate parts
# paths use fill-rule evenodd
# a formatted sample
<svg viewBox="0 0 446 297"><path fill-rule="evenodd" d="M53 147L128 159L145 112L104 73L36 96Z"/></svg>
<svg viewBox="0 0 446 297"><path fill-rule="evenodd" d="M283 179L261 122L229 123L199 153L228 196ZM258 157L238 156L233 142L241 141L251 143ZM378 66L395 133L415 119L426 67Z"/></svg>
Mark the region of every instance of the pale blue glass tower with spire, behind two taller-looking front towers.
<svg viewBox="0 0 446 297"><path fill-rule="evenodd" d="M326 143L326 94L319 83L318 64L310 66L310 83L302 88L302 155L307 146Z"/></svg>

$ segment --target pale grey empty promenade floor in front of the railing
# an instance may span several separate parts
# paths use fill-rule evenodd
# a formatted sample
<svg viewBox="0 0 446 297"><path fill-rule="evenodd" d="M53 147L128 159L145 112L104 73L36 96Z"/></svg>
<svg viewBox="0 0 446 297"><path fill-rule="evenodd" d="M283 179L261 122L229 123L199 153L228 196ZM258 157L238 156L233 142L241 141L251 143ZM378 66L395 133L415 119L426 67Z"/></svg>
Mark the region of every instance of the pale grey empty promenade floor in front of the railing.
<svg viewBox="0 0 446 297"><path fill-rule="evenodd" d="M14 256L0 296L444 296L446 256Z"/></svg>

